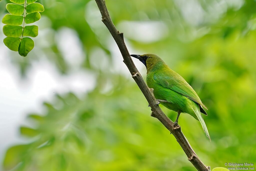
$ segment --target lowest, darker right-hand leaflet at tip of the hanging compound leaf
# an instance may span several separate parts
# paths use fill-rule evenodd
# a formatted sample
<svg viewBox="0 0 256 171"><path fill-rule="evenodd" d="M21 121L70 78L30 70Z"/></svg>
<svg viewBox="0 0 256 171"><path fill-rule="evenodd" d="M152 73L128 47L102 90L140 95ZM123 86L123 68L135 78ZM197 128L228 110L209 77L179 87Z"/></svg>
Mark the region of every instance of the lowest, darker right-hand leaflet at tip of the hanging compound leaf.
<svg viewBox="0 0 256 171"><path fill-rule="evenodd" d="M19 44L19 54L21 56L27 56L28 52L30 52L35 46L35 43L29 37L24 37Z"/></svg>

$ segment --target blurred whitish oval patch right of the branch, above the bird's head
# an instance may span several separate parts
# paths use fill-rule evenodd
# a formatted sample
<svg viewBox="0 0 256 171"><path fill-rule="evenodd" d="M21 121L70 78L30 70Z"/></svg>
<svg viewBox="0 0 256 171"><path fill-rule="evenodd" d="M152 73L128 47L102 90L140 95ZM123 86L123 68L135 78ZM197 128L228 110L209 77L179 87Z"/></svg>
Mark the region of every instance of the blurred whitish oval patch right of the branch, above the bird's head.
<svg viewBox="0 0 256 171"><path fill-rule="evenodd" d="M125 37L138 42L152 43L168 36L168 27L162 21L122 21L117 25Z"/></svg>

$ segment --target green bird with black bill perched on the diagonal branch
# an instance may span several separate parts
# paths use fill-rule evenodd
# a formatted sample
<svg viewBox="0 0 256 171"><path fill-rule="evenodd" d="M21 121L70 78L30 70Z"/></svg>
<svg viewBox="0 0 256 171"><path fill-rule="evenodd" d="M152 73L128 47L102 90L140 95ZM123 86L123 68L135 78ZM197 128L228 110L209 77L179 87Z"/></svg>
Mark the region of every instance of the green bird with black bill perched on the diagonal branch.
<svg viewBox="0 0 256 171"><path fill-rule="evenodd" d="M174 122L178 124L180 113L188 113L199 120L206 136L211 140L201 112L207 115L195 90L186 80L171 70L165 62L155 54L131 55L139 59L147 68L147 85L154 89L155 98L166 108L178 112Z"/></svg>

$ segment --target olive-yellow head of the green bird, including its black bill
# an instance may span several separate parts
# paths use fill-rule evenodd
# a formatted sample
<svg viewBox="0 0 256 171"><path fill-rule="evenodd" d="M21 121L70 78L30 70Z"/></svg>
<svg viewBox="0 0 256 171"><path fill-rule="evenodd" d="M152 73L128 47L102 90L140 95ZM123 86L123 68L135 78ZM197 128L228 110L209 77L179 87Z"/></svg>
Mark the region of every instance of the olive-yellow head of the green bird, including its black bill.
<svg viewBox="0 0 256 171"><path fill-rule="evenodd" d="M163 62L163 60L159 56L152 53L131 56L139 59L146 66L147 70L159 62Z"/></svg>

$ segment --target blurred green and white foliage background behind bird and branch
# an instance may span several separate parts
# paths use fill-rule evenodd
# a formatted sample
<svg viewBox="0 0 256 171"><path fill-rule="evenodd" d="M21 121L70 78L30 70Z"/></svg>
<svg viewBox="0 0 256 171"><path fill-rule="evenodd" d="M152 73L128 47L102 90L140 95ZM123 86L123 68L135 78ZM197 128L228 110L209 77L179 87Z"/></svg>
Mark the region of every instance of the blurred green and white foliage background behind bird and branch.
<svg viewBox="0 0 256 171"><path fill-rule="evenodd" d="M0 30L1 169L196 170L173 135L150 117L96 3L39 2L45 12L26 58L5 47ZM0 3L1 18L6 3ZM179 120L202 161L211 168L256 165L256 1L106 5L129 52L161 56L208 107L211 142L197 120L187 114ZM134 62L145 78L144 65Z"/></svg>

